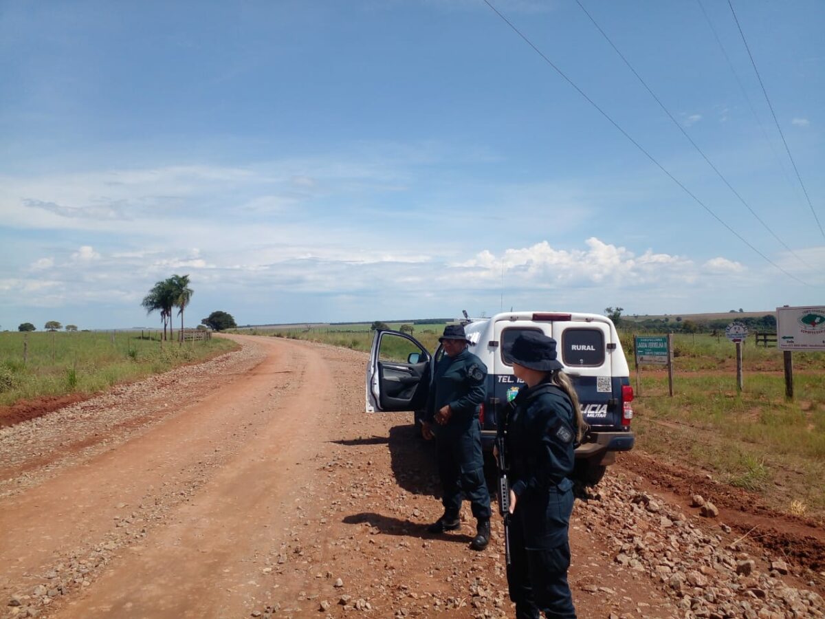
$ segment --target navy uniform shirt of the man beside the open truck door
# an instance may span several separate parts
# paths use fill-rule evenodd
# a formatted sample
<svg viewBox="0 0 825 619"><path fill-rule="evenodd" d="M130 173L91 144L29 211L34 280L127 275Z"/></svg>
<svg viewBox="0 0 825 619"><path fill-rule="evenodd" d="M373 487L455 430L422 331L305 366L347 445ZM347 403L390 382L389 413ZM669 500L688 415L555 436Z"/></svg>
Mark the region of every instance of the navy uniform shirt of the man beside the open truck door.
<svg viewBox="0 0 825 619"><path fill-rule="evenodd" d="M427 399L427 421L447 404L452 415L446 426L464 427L476 417L487 397L487 366L466 348L455 357L443 355L436 364Z"/></svg>

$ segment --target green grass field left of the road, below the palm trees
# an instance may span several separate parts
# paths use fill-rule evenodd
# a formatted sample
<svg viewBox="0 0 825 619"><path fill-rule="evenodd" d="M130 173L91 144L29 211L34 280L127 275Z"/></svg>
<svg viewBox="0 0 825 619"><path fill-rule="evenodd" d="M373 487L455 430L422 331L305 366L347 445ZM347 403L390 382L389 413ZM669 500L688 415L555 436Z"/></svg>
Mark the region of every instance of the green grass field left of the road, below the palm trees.
<svg viewBox="0 0 825 619"><path fill-rule="evenodd" d="M0 333L0 405L92 394L237 348L224 338L161 347L157 335L145 337L135 331Z"/></svg>

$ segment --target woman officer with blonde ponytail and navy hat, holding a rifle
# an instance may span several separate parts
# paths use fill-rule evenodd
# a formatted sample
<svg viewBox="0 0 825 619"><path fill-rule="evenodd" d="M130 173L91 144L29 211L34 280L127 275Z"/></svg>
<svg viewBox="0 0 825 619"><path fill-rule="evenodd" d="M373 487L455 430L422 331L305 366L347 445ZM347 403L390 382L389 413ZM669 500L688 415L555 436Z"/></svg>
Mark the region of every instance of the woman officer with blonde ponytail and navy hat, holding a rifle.
<svg viewBox="0 0 825 619"><path fill-rule="evenodd" d="M506 425L510 460L510 598L517 619L576 617L568 586L573 451L586 424L576 391L556 358L556 341L521 333L505 350L524 380Z"/></svg>

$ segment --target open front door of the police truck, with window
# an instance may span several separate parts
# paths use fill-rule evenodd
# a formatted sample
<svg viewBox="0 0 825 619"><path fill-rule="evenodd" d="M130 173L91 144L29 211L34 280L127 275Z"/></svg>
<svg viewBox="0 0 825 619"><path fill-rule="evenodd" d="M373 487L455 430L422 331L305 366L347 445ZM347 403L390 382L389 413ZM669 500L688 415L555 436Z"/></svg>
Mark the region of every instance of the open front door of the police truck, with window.
<svg viewBox="0 0 825 619"><path fill-rule="evenodd" d="M366 412L423 409L430 390L431 359L413 336L376 331L366 367Z"/></svg>

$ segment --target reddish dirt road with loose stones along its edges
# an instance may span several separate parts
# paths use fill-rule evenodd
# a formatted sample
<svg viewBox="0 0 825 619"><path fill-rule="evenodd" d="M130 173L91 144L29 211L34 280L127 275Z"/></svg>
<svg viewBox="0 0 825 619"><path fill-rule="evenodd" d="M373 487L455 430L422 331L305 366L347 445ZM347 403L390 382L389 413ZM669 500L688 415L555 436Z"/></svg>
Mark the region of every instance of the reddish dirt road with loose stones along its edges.
<svg viewBox="0 0 825 619"><path fill-rule="evenodd" d="M425 532L431 447L363 412L365 355L236 338L0 429L0 617L512 617L500 523L481 553L469 508ZM823 616L815 566L662 485L617 466L577 502L579 617Z"/></svg>

